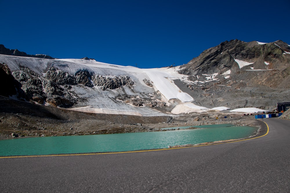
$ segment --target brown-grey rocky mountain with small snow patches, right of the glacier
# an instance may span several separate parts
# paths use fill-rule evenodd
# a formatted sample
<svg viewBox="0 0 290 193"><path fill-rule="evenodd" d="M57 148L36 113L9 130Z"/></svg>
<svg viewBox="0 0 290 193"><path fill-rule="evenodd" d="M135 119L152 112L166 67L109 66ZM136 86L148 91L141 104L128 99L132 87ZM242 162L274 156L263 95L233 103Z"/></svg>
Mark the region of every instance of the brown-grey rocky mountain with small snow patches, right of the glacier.
<svg viewBox="0 0 290 193"><path fill-rule="evenodd" d="M290 46L282 41L225 41L180 66L179 73L193 81L186 87L206 107L271 110L290 101Z"/></svg>

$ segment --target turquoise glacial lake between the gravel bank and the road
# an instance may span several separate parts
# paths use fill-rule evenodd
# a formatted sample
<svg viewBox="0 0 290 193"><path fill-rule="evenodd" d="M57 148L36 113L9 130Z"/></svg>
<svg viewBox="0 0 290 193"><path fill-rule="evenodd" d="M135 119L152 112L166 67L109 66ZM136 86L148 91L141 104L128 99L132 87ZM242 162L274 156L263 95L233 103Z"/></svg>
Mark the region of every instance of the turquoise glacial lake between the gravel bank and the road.
<svg viewBox="0 0 290 193"><path fill-rule="evenodd" d="M186 129L196 127L196 129ZM180 130L173 130L180 128ZM50 155L89 152L122 152L168 148L219 140L240 139L255 135L257 127L216 124L171 127L168 131L30 137L0 140L0 156Z"/></svg>

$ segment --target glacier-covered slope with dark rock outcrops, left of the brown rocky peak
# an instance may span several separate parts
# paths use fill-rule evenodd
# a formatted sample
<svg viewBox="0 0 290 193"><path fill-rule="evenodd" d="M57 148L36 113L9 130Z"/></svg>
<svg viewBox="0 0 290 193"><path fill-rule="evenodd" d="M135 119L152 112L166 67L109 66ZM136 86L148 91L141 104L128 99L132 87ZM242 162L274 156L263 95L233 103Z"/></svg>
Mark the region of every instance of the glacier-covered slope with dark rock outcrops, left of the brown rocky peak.
<svg viewBox="0 0 290 193"><path fill-rule="evenodd" d="M14 98L76 111L142 116L168 115L194 99L180 91L177 68L139 69L93 59L43 59L0 55L21 84Z"/></svg>

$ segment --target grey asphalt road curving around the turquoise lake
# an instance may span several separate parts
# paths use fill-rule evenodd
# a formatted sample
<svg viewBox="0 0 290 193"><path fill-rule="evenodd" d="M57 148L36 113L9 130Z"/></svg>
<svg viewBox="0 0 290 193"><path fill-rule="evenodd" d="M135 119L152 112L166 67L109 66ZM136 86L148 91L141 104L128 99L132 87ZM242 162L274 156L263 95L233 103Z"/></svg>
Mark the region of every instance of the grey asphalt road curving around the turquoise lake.
<svg viewBox="0 0 290 193"><path fill-rule="evenodd" d="M106 155L0 159L1 192L290 192L290 120L246 141Z"/></svg>

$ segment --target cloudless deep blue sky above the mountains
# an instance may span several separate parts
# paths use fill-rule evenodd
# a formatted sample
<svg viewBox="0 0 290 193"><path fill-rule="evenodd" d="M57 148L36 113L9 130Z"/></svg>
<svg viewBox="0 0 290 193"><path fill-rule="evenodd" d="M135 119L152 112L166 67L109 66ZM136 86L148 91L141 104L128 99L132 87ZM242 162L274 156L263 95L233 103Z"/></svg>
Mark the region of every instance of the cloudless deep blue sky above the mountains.
<svg viewBox="0 0 290 193"><path fill-rule="evenodd" d="M153 68L223 41L290 44L290 1L0 0L0 44L27 54Z"/></svg>

